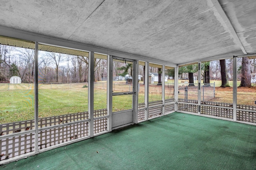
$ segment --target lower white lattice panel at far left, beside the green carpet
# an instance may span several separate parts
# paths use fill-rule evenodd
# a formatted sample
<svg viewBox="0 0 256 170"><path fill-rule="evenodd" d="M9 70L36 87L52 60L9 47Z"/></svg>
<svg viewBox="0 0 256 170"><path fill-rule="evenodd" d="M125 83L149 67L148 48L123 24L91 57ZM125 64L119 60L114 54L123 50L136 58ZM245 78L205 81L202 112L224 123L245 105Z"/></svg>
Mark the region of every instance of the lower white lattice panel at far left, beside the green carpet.
<svg viewBox="0 0 256 170"><path fill-rule="evenodd" d="M34 133L0 140L0 160L7 160L8 158L32 152L34 150Z"/></svg>

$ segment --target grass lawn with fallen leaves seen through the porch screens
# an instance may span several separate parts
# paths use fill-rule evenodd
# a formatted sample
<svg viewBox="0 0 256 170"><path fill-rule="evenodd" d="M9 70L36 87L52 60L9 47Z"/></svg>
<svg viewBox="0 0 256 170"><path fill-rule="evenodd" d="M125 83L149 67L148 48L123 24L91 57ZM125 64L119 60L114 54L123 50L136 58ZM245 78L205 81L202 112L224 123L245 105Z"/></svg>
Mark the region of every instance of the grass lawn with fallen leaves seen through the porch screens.
<svg viewBox="0 0 256 170"><path fill-rule="evenodd" d="M122 81L120 91L128 91L129 86ZM173 80L166 85L166 99L173 98ZM205 89L206 101L232 103L232 88L220 88L221 81L215 81L215 98L213 90ZM88 88L82 88L85 83L73 84L40 84L38 95L39 117L49 117L88 111ZM231 82L230 82L230 85ZM118 87L118 86L116 86ZM127 88L127 89L126 89ZM8 90L9 89L9 90ZM179 98L184 98L184 90L179 90ZM156 84L149 86L149 102L162 100L162 87ZM209 93L209 94L207 94ZM32 84L0 84L0 124L14 121L34 119L34 86ZM138 103L144 103L144 85L140 84ZM256 87L238 88L238 104L255 106ZM197 100L197 88L190 89L188 99ZM130 109L131 95L114 96L113 111ZM107 108L106 82L94 83L94 110Z"/></svg>

